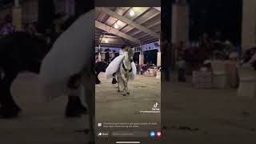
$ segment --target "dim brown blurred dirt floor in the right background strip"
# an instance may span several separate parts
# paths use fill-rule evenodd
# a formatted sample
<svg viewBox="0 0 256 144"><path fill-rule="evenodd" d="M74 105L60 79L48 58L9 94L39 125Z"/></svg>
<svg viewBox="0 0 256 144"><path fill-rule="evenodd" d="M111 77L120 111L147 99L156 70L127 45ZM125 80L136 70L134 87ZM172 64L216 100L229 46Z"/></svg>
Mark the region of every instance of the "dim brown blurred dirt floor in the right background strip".
<svg viewBox="0 0 256 144"><path fill-rule="evenodd" d="M240 144L256 142L256 96L236 89L198 90L176 77L162 82L162 130L165 143Z"/></svg>

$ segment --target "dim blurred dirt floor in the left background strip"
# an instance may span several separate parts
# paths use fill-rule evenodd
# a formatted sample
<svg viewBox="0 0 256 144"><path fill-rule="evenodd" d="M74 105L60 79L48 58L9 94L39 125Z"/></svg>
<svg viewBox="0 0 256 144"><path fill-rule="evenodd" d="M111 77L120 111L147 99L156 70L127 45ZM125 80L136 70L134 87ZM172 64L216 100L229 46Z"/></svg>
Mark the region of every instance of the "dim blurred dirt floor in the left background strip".
<svg viewBox="0 0 256 144"><path fill-rule="evenodd" d="M84 144L87 117L64 117L67 97L42 102L38 94L38 76L20 74L14 81L12 93L22 113L17 119L0 119L1 144Z"/></svg>

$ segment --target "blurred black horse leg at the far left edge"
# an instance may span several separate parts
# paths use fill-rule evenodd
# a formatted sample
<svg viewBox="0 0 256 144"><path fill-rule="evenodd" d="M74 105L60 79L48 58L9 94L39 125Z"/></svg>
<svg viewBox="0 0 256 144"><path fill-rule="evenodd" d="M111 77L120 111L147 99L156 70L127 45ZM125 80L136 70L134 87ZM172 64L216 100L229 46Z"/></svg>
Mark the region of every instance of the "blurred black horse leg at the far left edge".
<svg viewBox="0 0 256 144"><path fill-rule="evenodd" d="M14 79L17 77L18 72L5 71L5 77L0 81L0 117L2 118L15 118L21 109L14 102L10 93L10 86Z"/></svg>

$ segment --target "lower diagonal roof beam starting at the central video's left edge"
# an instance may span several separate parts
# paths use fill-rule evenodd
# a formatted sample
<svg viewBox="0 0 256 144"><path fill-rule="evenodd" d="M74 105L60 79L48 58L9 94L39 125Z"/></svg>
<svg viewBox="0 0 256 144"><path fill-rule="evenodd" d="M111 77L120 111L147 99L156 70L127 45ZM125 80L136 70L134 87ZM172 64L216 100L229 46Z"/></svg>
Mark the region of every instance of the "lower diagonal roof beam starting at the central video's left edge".
<svg viewBox="0 0 256 144"><path fill-rule="evenodd" d="M100 30L104 30L110 34L114 34L114 35L117 35L118 37L121 37L121 38L126 38L127 40L129 41L132 41L132 42L136 42L138 44L141 43L141 41L137 38L133 38L131 37L130 35L128 34L125 34L125 33L122 33L121 31L119 30L116 30L110 26L106 26L104 23L102 22L98 22L98 21L95 21L95 27L97 27L98 29Z"/></svg>

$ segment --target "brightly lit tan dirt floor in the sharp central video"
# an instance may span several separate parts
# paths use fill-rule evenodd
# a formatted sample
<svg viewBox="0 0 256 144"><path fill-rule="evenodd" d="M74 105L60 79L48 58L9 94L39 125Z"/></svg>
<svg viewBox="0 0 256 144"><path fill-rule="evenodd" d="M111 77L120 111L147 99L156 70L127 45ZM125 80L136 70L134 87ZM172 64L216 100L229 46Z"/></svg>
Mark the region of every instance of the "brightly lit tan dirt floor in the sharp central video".
<svg viewBox="0 0 256 144"><path fill-rule="evenodd" d="M117 84L99 75L101 84L95 87L96 122L158 122L161 114L141 114L140 110L152 110L155 102L161 105L161 80L137 75L129 82L130 95L118 93Z"/></svg>

